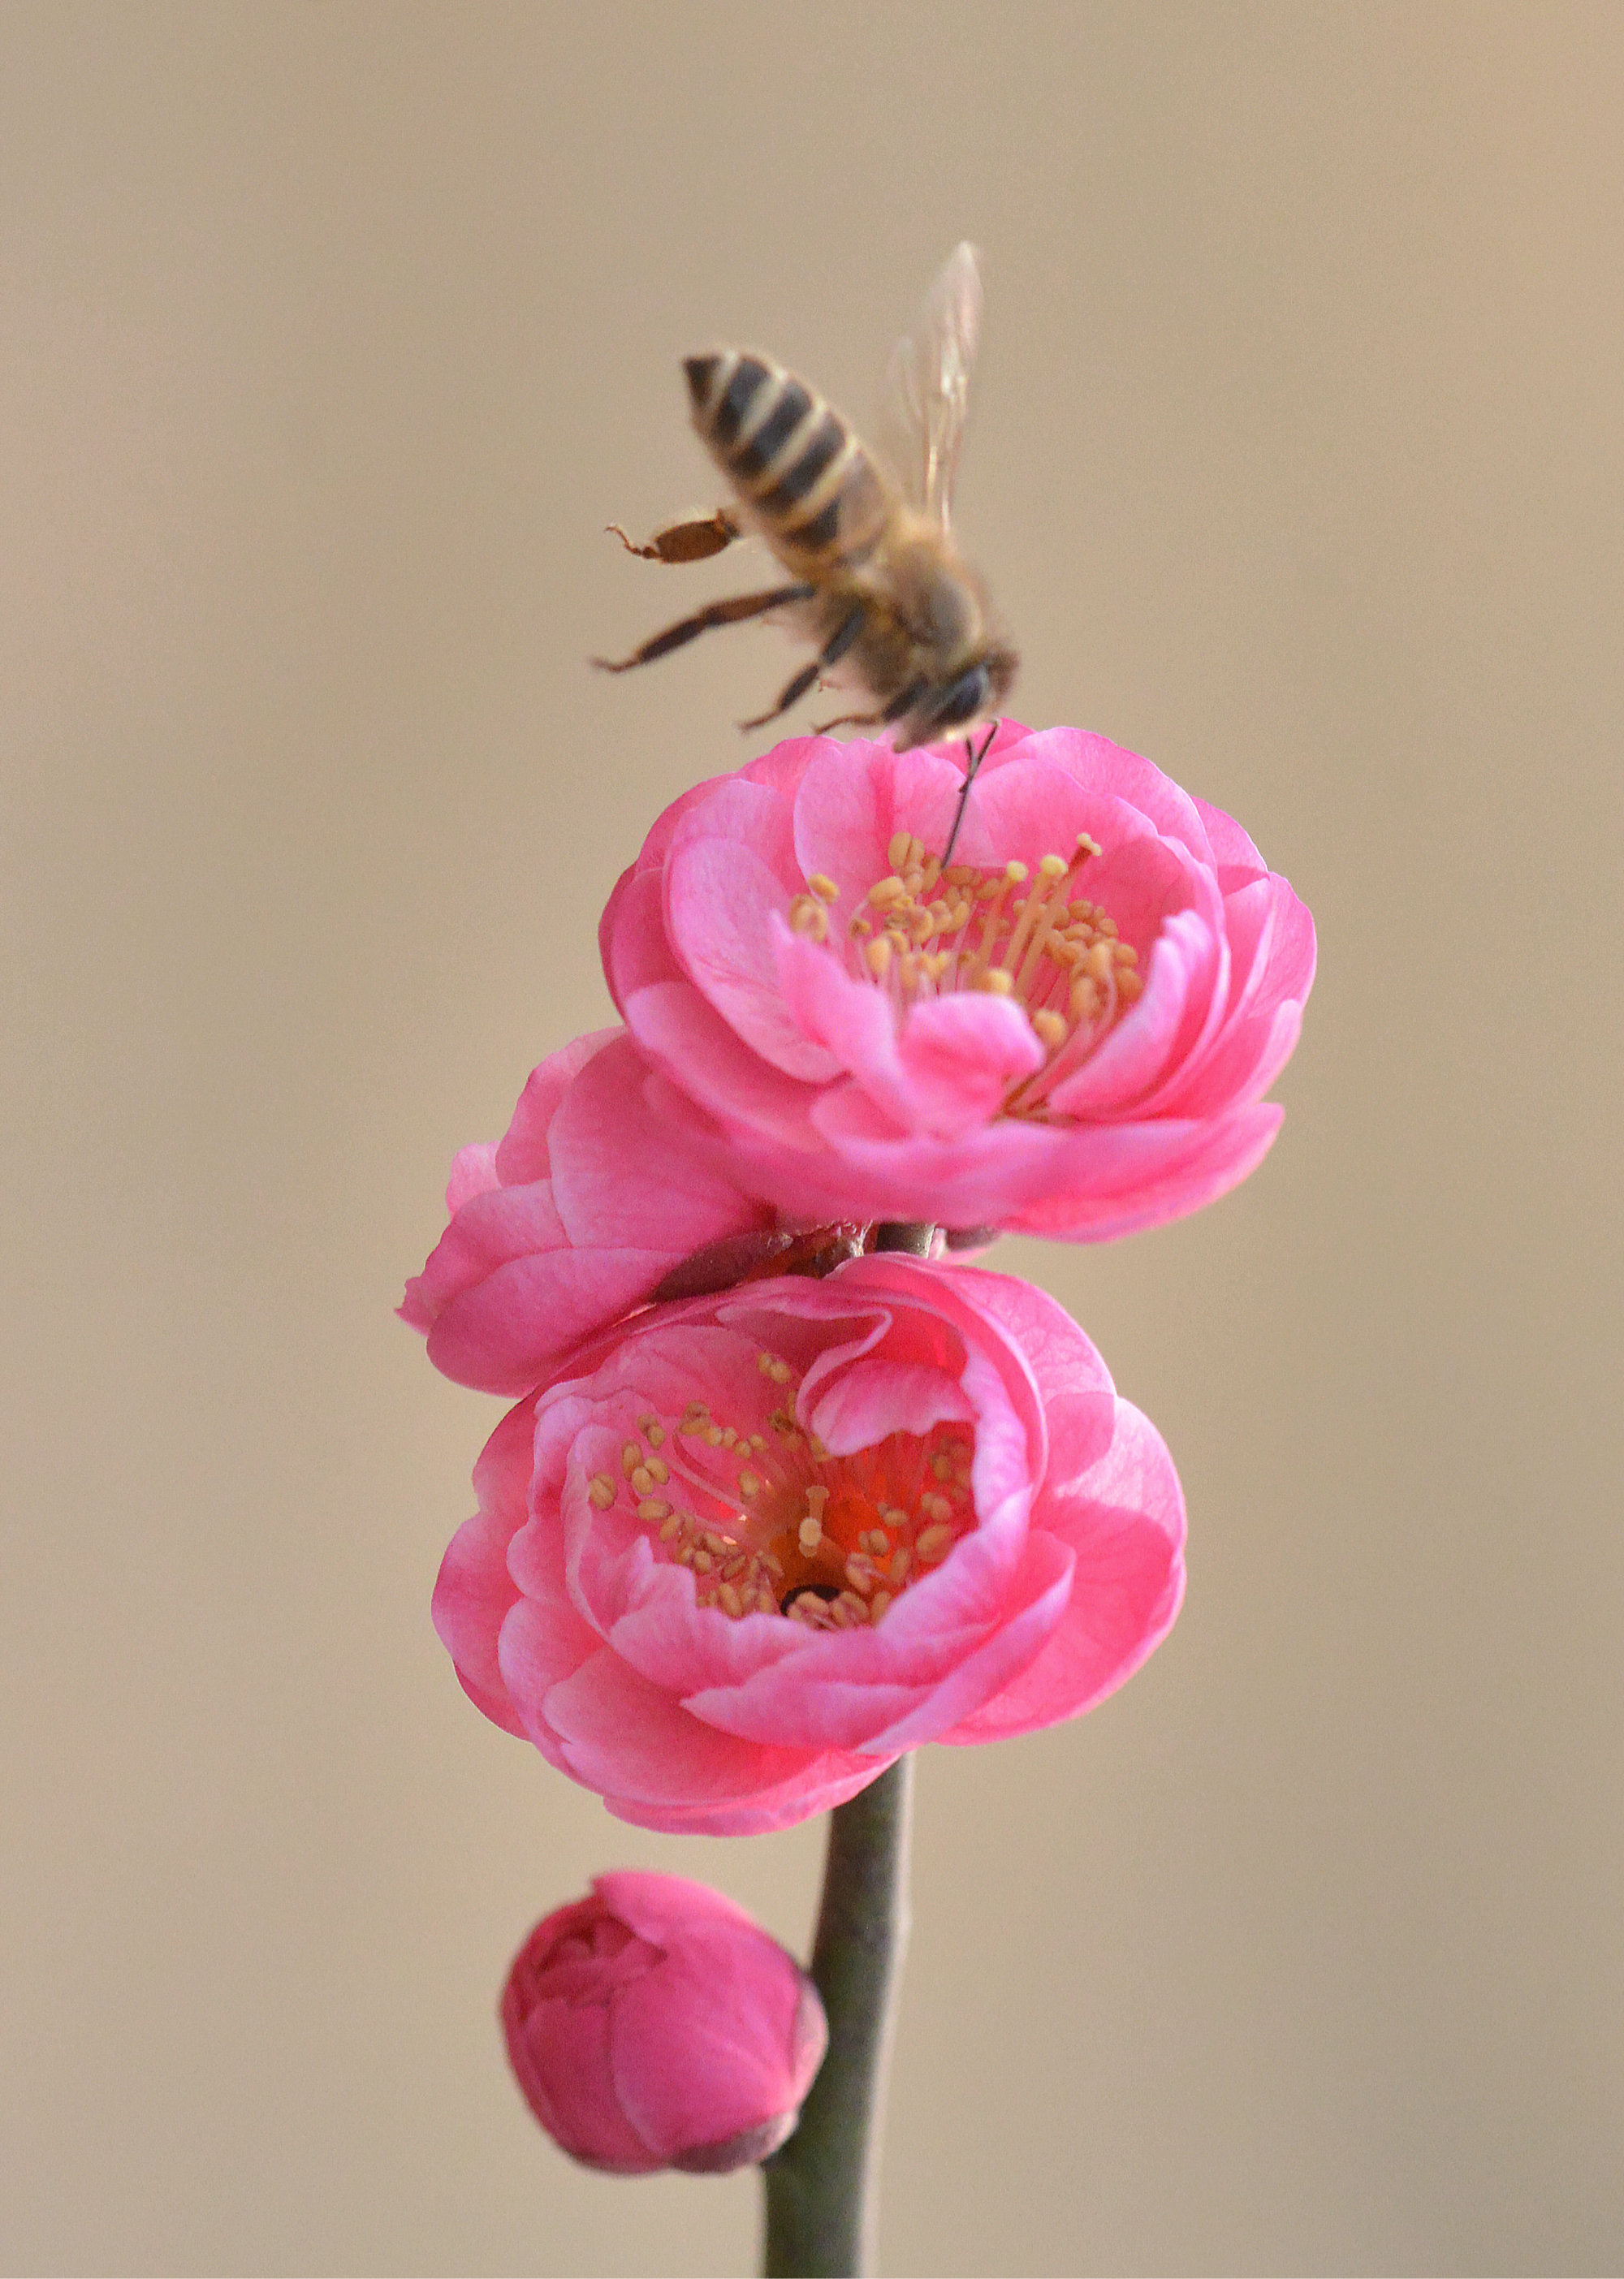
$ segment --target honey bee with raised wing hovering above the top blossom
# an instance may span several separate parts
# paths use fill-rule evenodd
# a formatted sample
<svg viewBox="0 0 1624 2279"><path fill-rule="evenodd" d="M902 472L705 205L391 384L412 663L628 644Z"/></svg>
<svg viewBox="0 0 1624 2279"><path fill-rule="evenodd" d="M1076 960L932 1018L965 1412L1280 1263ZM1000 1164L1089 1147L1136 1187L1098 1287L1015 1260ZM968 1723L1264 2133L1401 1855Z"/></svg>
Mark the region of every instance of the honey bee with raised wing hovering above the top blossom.
<svg viewBox="0 0 1624 2279"><path fill-rule="evenodd" d="M916 330L891 358L891 463L770 356L690 356L683 371L692 424L733 499L656 531L642 547L620 524L610 529L631 554L661 563L704 561L756 536L788 581L713 602L631 656L594 663L629 672L715 624L774 613L815 640L818 654L779 691L772 711L740 722L745 729L777 720L820 679L852 688L863 709L825 720L815 734L897 727L902 752L998 711L1018 659L950 531L979 317L975 248L957 246Z"/></svg>

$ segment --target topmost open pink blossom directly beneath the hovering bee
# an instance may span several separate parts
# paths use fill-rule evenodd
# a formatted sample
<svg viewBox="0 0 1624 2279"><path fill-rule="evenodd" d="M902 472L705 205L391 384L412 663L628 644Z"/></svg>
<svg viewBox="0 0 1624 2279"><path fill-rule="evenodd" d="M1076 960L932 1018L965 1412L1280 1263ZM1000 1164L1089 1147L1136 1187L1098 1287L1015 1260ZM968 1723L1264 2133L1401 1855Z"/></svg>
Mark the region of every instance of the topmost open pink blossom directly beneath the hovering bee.
<svg viewBox="0 0 1624 2279"><path fill-rule="evenodd" d="M1314 928L1246 832L1077 729L804 736L654 825L601 923L651 1096L799 1217L1102 1240L1264 1155Z"/></svg>

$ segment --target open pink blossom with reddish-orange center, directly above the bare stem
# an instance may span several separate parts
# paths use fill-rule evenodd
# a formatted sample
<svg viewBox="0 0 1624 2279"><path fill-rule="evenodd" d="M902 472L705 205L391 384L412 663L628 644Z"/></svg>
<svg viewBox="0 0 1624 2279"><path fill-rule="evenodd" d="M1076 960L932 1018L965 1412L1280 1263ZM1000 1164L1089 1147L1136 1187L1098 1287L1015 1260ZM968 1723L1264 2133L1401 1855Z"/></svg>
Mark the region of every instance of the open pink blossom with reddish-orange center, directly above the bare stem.
<svg viewBox="0 0 1624 2279"><path fill-rule="evenodd" d="M749 1835L920 1741L1077 1716L1166 1634L1184 1506L1041 1290L881 1253L658 1306L492 1433L435 1625L622 1819Z"/></svg>

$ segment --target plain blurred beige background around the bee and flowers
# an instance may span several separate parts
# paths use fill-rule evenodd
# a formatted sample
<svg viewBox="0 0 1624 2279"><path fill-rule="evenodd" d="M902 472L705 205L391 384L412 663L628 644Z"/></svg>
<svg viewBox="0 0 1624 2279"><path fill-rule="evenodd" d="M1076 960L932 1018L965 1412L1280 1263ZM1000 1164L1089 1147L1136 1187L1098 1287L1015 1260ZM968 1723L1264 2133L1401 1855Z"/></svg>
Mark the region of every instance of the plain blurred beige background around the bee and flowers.
<svg viewBox="0 0 1624 2279"><path fill-rule="evenodd" d="M961 235L1018 709L1241 816L1321 980L1250 1185L1004 1251L1191 1588L925 1757L886 2261L1619 2268L1622 103L1617 7L0 16L7 2268L752 2265L492 2003L608 1864L799 1944L820 1832L460 1698L499 1408L389 1308L790 670L583 665L736 579L601 536L711 504L676 358L868 412Z"/></svg>

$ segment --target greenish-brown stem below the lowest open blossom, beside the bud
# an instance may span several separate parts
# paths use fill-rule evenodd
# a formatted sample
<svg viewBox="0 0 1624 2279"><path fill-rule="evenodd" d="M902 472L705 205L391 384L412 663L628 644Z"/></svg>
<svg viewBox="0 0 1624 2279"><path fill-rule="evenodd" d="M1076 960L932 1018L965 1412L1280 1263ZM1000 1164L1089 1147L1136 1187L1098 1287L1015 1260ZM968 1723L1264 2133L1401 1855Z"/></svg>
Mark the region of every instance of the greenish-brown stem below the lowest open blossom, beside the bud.
<svg viewBox="0 0 1624 2279"><path fill-rule="evenodd" d="M875 2268L886 2067L909 1942L913 1759L829 1814L811 1974L829 2056L795 2135L763 2165L765 2279L861 2279Z"/></svg>

